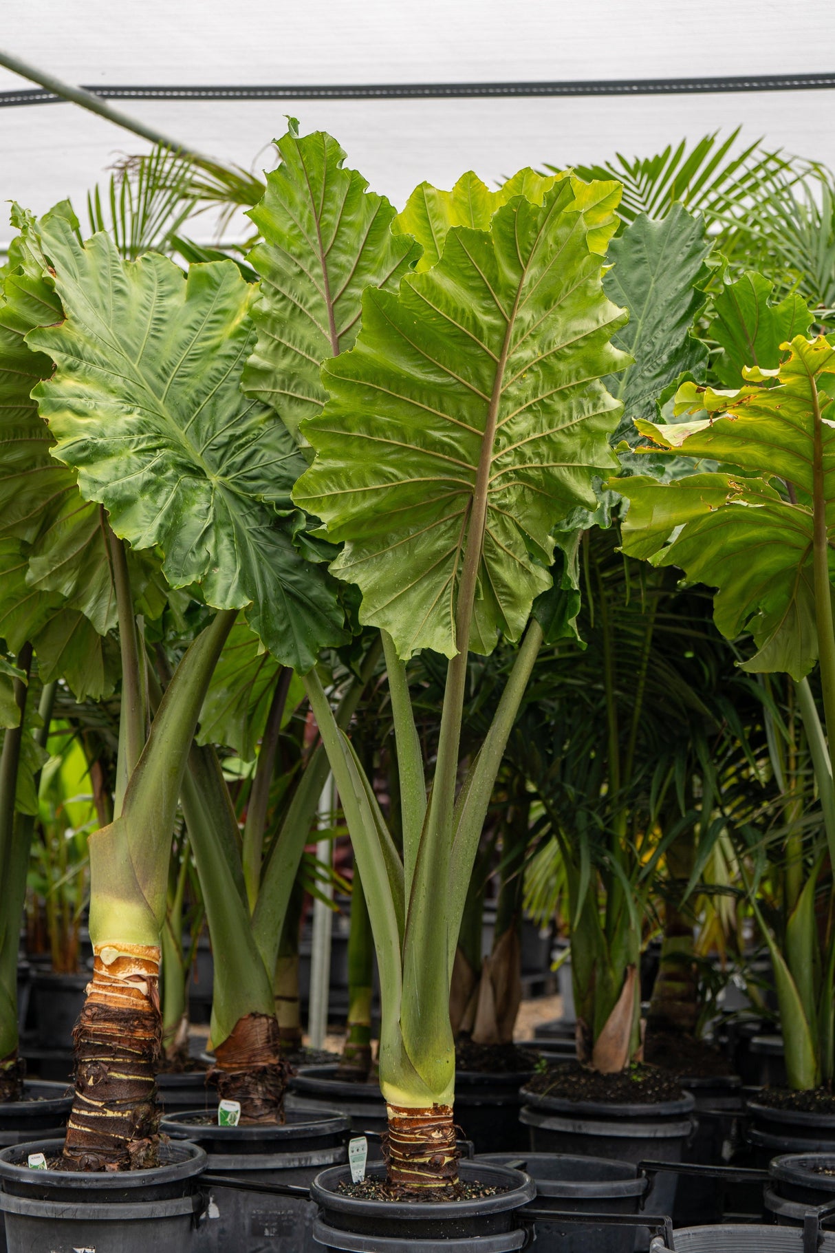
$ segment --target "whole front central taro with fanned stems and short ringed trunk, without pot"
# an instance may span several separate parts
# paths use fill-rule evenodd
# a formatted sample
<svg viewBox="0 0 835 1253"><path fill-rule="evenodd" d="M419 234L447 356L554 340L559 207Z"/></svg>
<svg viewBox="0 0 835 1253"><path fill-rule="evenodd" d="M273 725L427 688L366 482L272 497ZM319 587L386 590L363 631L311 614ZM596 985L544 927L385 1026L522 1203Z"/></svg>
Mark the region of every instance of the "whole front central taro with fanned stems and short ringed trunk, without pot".
<svg viewBox="0 0 835 1253"><path fill-rule="evenodd" d="M324 366L329 400L302 424L315 459L294 489L344 544L332 573L358 585L386 650L402 853L315 672L305 684L368 898L388 1170L409 1188L457 1178L448 1000L467 885L543 638L531 609L551 586L551 531L595 507L592 480L615 464L621 407L601 380L628 360L611 345L626 313L601 286L620 187L531 172L498 193L467 183L461 197L418 189L421 272L364 293L356 346ZM467 653L499 633L523 639L458 791ZM404 669L424 648L449 659L428 799Z"/></svg>

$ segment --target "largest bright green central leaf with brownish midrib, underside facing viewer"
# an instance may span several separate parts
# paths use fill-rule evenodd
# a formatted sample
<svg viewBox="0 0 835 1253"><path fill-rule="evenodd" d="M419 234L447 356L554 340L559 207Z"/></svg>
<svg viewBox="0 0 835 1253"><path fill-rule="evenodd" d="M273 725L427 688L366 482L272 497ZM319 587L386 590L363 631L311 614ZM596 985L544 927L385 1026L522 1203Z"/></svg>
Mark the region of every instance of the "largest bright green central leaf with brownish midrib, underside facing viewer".
<svg viewBox="0 0 835 1253"><path fill-rule="evenodd" d="M541 205L508 200L489 232L453 227L397 296L366 292L357 346L323 368L332 400L304 424L317 459L294 499L346 541L332 570L402 658L456 654L469 543L469 647L517 639L551 585L552 528L593 507L592 477L615 465L621 407L600 380L628 361L610 343L626 313L601 287L617 195L562 179Z"/></svg>

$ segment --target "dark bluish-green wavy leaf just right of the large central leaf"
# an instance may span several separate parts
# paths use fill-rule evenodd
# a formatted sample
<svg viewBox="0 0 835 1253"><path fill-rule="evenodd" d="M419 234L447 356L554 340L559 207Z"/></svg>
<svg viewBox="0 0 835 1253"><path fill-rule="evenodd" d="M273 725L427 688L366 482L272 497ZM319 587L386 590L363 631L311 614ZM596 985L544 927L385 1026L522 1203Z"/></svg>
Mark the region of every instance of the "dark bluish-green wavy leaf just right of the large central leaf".
<svg viewBox="0 0 835 1253"><path fill-rule="evenodd" d="M709 274L710 249L704 221L681 204L661 222L640 214L612 239L607 261L613 266L603 291L630 311L612 342L635 357L635 365L606 386L623 405L627 435L635 430L632 419L655 417L658 396L680 375L705 378L707 348L691 327L706 299L699 284Z"/></svg>

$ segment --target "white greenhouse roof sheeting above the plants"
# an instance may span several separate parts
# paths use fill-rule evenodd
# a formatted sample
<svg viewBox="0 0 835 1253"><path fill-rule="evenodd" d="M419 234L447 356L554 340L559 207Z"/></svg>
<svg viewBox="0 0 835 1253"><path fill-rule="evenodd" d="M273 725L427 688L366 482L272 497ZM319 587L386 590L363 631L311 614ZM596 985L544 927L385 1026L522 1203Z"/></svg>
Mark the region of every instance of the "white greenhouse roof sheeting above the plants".
<svg viewBox="0 0 835 1253"><path fill-rule="evenodd" d="M780 0L26 0L0 6L0 48L81 84L232 85L679 78L835 70L835 5ZM0 90L30 86L0 69ZM398 207L422 179L473 168L647 155L730 130L835 168L835 91L494 100L120 100L187 145L272 164L284 130L323 128ZM71 104L0 109L0 200L35 212L146 148ZM199 221L199 219L198 219ZM208 222L193 224L208 239ZM9 238L0 213L0 246Z"/></svg>

